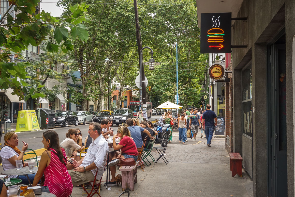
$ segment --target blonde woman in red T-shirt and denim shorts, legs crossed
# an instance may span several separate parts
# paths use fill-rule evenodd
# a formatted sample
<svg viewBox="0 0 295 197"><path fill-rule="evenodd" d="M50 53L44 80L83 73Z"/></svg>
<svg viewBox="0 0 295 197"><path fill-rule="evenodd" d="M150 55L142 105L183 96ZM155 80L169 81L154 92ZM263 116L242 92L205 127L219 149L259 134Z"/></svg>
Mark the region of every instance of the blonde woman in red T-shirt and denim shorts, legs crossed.
<svg viewBox="0 0 295 197"><path fill-rule="evenodd" d="M116 138L120 138L119 144L116 144ZM115 176L116 176L116 164L119 163L119 160L125 159L125 158L132 158L134 161L137 161L137 148L135 145L135 142L133 141L130 131L126 126L121 126L118 128L117 134L113 136L113 148L114 150L121 149L121 152L117 156L117 159L115 157L111 158L112 160L108 163L109 169L111 170L112 179L108 182L109 186L115 186ZM116 154L117 155L117 154ZM106 184L104 184L106 185Z"/></svg>

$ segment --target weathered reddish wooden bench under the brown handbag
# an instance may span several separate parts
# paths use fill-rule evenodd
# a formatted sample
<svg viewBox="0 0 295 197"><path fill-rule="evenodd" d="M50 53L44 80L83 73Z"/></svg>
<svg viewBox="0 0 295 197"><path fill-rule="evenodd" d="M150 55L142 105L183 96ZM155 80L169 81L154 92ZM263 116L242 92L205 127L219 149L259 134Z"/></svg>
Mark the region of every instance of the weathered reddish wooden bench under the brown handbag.
<svg viewBox="0 0 295 197"><path fill-rule="evenodd" d="M129 188L131 191L134 191L134 183L137 183L137 165L122 165L119 168L119 171L122 171L122 191L125 191Z"/></svg>

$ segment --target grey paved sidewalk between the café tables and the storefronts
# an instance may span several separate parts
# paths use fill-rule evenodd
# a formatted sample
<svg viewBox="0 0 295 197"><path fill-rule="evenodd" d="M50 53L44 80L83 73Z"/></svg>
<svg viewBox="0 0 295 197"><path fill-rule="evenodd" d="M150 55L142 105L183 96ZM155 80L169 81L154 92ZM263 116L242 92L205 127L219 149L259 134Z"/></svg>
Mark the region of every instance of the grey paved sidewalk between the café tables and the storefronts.
<svg viewBox="0 0 295 197"><path fill-rule="evenodd" d="M130 196L253 196L253 182L245 171L242 178L238 175L232 177L229 155L224 148L225 139L213 139L212 147L209 148L206 140L200 139L200 133L195 142L189 139L186 144L179 143L178 136L174 134L176 132L173 132L172 143L168 144L165 155L169 164L165 165L160 159L156 165L152 164L144 171L137 168L137 183L134 191L130 191ZM156 152L152 154L158 157ZM102 180L106 180L106 172ZM102 186L100 195L118 197L122 193L120 186L112 186L110 191ZM81 195L82 189L74 187L72 197Z"/></svg>

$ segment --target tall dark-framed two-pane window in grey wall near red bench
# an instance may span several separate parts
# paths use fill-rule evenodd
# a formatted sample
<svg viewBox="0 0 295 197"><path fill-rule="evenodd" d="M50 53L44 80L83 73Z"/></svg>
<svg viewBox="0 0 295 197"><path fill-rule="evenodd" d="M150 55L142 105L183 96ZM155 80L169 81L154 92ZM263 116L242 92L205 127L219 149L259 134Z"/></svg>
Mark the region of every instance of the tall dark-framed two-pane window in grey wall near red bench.
<svg viewBox="0 0 295 197"><path fill-rule="evenodd" d="M252 137L252 74L251 63L242 70L243 133Z"/></svg>

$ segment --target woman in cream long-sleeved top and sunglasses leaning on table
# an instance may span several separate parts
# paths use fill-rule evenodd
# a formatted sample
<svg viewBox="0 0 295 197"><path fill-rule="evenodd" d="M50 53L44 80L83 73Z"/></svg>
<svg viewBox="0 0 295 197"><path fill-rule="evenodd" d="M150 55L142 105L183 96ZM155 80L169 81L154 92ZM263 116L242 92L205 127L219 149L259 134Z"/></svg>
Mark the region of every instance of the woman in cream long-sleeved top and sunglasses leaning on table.
<svg viewBox="0 0 295 197"><path fill-rule="evenodd" d="M60 143L60 146L65 149L67 157L73 158L76 161L80 160L80 156L77 156L76 151L81 151L82 148L76 143L79 132L77 129L71 128L68 133L65 134L66 139Z"/></svg>

